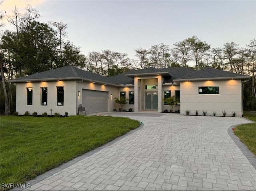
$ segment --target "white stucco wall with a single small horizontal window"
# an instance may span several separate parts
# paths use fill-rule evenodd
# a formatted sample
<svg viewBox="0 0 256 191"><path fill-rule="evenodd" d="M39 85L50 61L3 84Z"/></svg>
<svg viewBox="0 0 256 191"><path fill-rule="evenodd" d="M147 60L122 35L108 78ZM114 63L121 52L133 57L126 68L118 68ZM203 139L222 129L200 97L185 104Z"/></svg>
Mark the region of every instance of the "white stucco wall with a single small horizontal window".
<svg viewBox="0 0 256 191"><path fill-rule="evenodd" d="M198 87L220 86L220 94L198 94ZM199 110L198 115L202 115L202 110L207 111L207 115L213 115L213 111L218 116L222 116L222 111L226 111L226 116L231 116L236 111L238 117L242 117L242 93L241 80L216 80L197 81L180 83L180 114L186 115L186 110L190 110L190 115L195 115L195 110Z"/></svg>

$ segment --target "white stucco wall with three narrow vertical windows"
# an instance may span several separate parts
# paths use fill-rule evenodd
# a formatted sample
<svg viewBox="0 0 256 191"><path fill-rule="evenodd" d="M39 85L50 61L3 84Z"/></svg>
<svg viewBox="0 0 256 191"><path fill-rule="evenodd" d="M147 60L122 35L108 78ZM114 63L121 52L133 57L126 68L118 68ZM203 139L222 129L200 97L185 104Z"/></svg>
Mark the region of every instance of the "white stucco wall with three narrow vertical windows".
<svg viewBox="0 0 256 191"><path fill-rule="evenodd" d="M57 106L57 89L56 87L64 87L64 105ZM48 103L47 105L41 105L41 88L47 87ZM27 90L26 88L33 88L33 103L27 104ZM52 109L52 115L55 112L60 115L76 115L76 81L54 81L54 82L27 82L16 84L16 111L20 115L23 115L26 111L32 114L34 111L41 115L47 112L51 115L50 109Z"/></svg>

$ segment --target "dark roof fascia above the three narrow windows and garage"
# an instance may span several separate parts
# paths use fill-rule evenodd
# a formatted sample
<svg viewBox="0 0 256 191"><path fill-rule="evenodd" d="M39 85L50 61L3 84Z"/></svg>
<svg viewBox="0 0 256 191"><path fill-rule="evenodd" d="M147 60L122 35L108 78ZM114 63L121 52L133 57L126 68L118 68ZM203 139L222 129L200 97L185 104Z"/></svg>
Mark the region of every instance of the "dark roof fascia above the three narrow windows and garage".
<svg viewBox="0 0 256 191"><path fill-rule="evenodd" d="M80 78L80 77L77 77L77 78L74 78L74 77L68 77L68 78L47 78L47 79L32 79L32 80L8 80L7 82L14 82L14 83L21 83L21 82L41 82L41 81L60 81L60 80L85 80L85 81L88 81L88 82L95 82L95 83L98 83L98 84L106 84L106 85L111 85L111 86L117 86L119 87L119 85L116 85L116 84L110 84L110 83L107 83L107 82L101 82L101 81L97 81L97 80L91 80L91 79L87 79L87 78Z"/></svg>

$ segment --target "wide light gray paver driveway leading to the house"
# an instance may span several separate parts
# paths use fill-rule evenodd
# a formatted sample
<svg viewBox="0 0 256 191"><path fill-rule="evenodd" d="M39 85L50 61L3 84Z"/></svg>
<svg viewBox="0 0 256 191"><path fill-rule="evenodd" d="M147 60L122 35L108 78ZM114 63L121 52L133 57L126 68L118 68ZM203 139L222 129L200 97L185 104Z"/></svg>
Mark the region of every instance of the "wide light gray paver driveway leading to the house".
<svg viewBox="0 0 256 191"><path fill-rule="evenodd" d="M256 189L256 169L227 132L246 119L127 115L144 126L89 157L40 175L29 182L29 190Z"/></svg>

